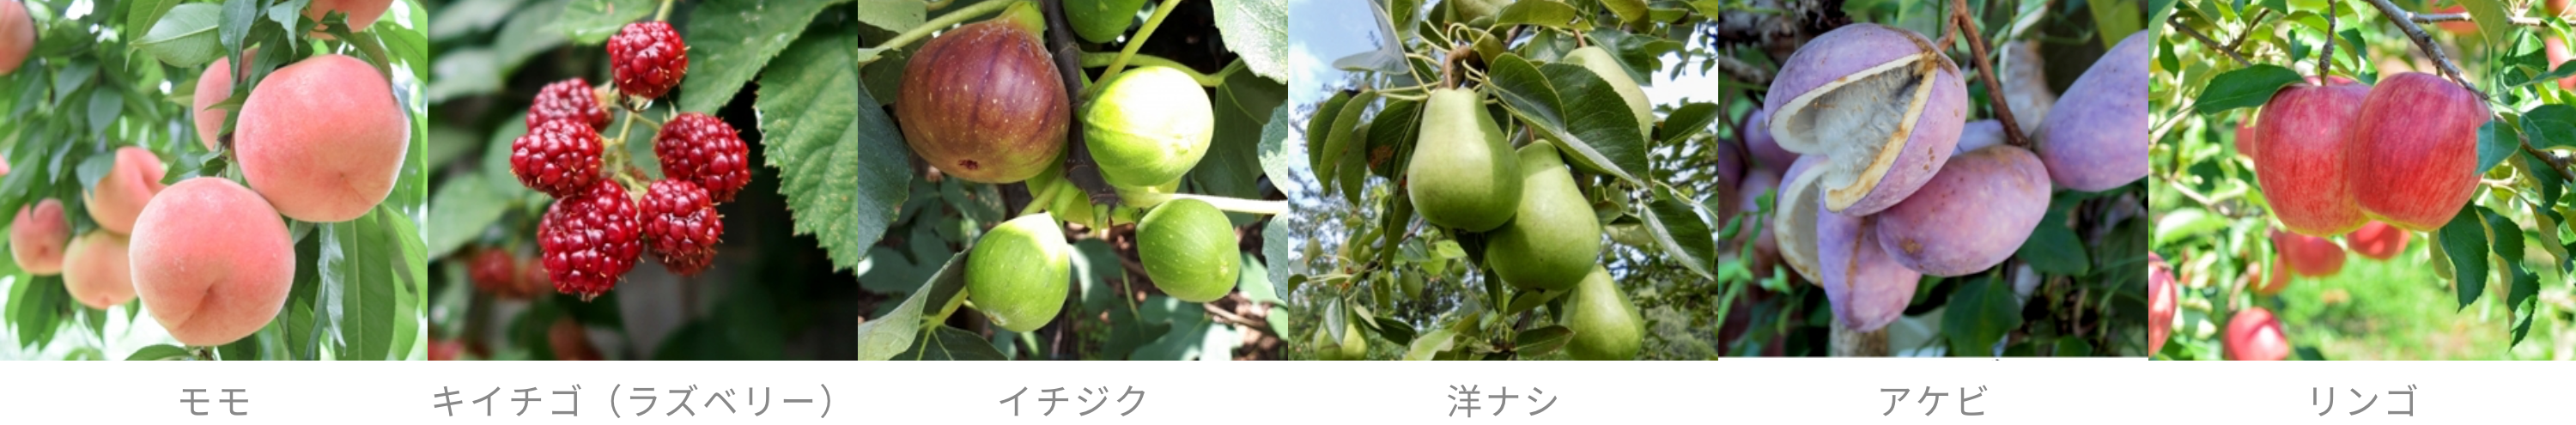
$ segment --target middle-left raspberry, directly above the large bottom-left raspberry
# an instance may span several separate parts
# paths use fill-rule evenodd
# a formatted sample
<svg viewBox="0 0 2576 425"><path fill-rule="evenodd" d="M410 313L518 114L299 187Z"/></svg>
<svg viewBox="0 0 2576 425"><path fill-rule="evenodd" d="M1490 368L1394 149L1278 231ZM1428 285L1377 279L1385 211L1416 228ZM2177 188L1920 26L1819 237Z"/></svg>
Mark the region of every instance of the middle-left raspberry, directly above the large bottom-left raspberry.
<svg viewBox="0 0 2576 425"><path fill-rule="evenodd" d="M544 121L510 142L510 173L520 185L572 198L600 183L600 131L574 121Z"/></svg>

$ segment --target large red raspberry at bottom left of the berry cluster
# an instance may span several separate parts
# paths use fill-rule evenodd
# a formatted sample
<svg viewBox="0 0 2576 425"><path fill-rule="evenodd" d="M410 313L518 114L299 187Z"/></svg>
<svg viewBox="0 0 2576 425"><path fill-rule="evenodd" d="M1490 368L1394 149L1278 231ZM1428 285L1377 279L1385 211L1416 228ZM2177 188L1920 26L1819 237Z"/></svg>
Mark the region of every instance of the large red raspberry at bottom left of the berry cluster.
<svg viewBox="0 0 2576 425"><path fill-rule="evenodd" d="M636 268L644 255L644 216L626 198L626 185L598 183L582 196L554 201L536 224L536 242L554 291L590 301Z"/></svg>

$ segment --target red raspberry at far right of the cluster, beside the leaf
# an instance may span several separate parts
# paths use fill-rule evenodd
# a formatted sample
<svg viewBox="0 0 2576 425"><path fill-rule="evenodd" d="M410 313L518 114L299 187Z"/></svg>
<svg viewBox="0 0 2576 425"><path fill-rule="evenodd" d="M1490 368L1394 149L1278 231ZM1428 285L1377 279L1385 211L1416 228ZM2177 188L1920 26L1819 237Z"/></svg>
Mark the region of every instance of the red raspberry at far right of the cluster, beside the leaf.
<svg viewBox="0 0 2576 425"><path fill-rule="evenodd" d="M716 203L734 201L734 193L752 183L742 134L708 113L680 113L662 124L652 155L662 157L662 178L698 183Z"/></svg>

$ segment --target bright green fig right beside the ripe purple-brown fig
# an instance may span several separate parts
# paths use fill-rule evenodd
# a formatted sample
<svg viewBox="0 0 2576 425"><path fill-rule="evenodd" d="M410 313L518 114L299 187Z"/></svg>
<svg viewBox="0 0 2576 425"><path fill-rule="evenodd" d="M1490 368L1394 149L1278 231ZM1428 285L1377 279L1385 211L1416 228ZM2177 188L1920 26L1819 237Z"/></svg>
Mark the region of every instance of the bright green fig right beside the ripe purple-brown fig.
<svg viewBox="0 0 2576 425"><path fill-rule="evenodd" d="M1082 106L1082 144L1110 185L1180 180L1208 157L1216 113L1198 80L1172 67L1136 67L1103 82Z"/></svg>

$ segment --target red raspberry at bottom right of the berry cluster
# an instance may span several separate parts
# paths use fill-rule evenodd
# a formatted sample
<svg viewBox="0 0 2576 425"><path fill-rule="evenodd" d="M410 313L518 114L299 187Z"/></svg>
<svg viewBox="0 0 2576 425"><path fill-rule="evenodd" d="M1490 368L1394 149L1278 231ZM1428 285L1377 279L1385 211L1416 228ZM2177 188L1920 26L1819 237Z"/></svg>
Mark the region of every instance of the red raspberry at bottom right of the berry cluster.
<svg viewBox="0 0 2576 425"><path fill-rule="evenodd" d="M662 268L677 276L698 276L716 260L716 242L724 237L724 219L706 188L688 180L654 180L644 191L644 240L662 258Z"/></svg>

